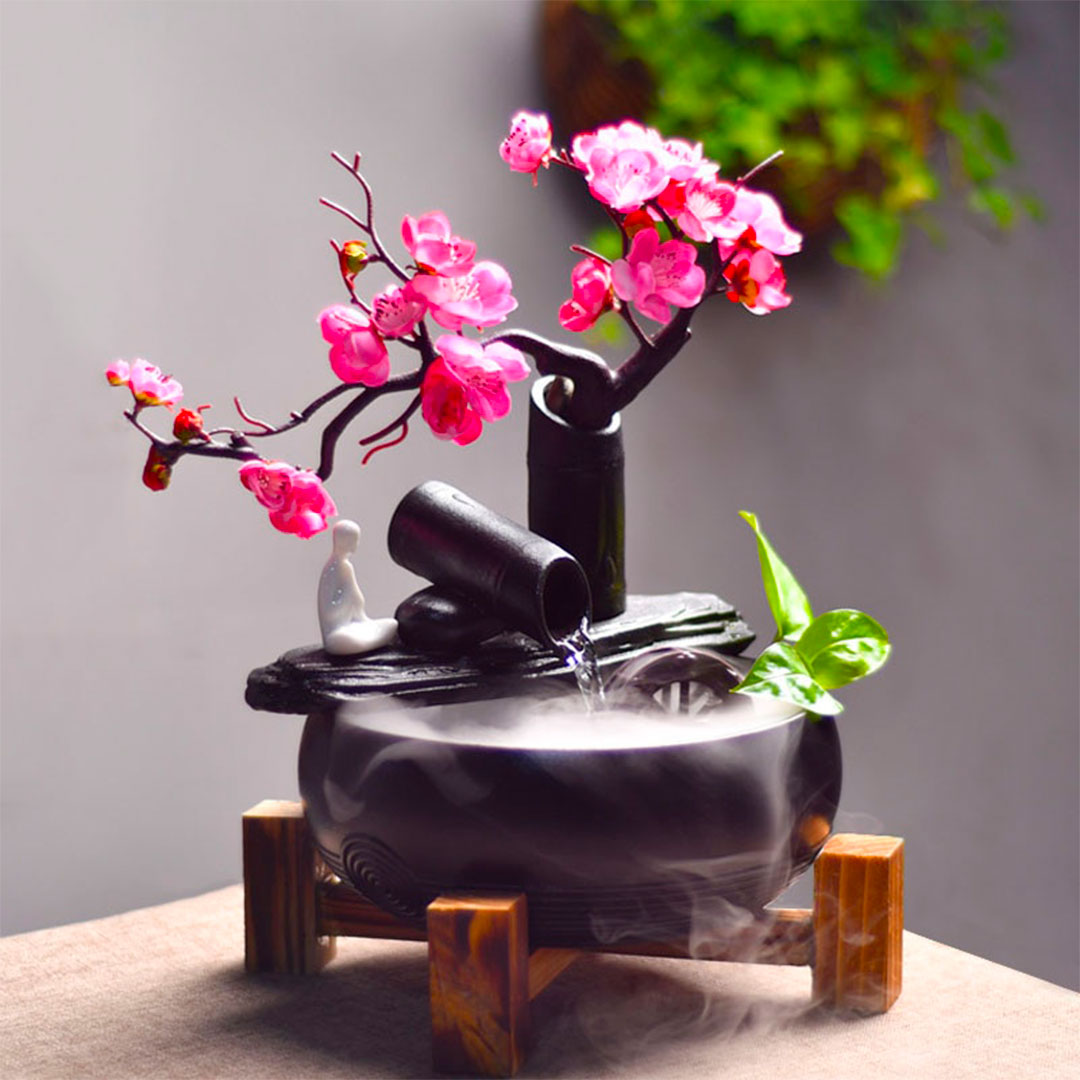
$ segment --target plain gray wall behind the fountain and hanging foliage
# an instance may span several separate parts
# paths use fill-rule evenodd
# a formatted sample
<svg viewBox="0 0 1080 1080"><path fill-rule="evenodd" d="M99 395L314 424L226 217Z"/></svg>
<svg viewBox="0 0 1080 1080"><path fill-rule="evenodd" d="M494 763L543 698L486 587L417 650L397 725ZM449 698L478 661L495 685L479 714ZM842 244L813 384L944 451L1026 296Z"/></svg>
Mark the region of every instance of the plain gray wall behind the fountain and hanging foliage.
<svg viewBox="0 0 1080 1080"><path fill-rule="evenodd" d="M1014 6L1001 80L1045 228L990 235L955 199L947 248L914 238L882 289L792 258L788 311L714 303L625 418L632 589L719 592L767 637L751 508L818 607L881 619L895 654L846 694L840 824L907 838L910 929L1072 986L1077 10ZM296 792L300 719L242 693L315 638L325 537L275 534L216 463L146 491L105 364L144 355L221 420L237 392L282 417L327 388L314 316L347 230L316 198L357 204L332 149L364 151L387 237L445 210L514 273L515 324L558 334L579 211L496 156L540 100L536 18L3 4L4 933L234 881L241 812ZM382 543L413 484L524 518L525 400L470 448L418 426L340 469L375 612L415 588ZM314 431L281 442L313 463Z"/></svg>

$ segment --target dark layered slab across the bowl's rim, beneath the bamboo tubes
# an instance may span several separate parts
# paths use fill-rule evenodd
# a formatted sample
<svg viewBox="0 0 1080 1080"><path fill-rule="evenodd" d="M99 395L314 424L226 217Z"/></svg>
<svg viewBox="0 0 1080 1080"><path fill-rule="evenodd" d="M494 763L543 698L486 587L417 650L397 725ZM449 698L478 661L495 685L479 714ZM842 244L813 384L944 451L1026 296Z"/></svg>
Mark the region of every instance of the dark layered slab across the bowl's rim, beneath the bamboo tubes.
<svg viewBox="0 0 1080 1080"><path fill-rule="evenodd" d="M626 610L592 629L600 671L658 645L742 652L754 633L711 593L630 596ZM245 699L269 713L307 715L368 694L417 704L561 691L573 676L561 658L524 634L499 634L465 657L441 660L401 646L363 657L332 657L320 646L292 649L247 677Z"/></svg>

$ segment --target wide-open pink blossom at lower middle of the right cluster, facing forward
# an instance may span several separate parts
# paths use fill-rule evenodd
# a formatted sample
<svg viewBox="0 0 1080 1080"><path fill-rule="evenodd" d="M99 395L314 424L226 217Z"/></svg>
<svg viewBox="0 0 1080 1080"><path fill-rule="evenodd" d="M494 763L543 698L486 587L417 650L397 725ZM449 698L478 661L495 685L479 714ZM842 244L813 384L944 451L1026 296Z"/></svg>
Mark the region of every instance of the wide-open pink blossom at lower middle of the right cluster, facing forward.
<svg viewBox="0 0 1080 1080"><path fill-rule="evenodd" d="M670 303L692 308L705 291L705 271L697 264L698 249L679 240L660 242L656 229L643 229L624 259L611 265L611 283L620 300L659 323L671 319Z"/></svg>

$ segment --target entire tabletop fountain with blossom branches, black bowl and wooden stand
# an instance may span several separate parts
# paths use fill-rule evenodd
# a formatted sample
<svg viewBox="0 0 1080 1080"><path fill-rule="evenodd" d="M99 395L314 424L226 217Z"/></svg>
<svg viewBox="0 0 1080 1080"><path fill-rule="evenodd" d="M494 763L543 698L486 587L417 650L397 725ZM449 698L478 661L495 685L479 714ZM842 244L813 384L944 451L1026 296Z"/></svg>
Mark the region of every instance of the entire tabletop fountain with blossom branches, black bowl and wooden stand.
<svg viewBox="0 0 1080 1080"><path fill-rule="evenodd" d="M622 410L708 297L755 314L791 302L777 255L801 238L746 186L757 170L720 180L700 146L637 124L555 151L546 119L518 113L501 153L534 177L576 171L618 226L621 258L575 248L584 258L559 321L580 332L618 314L635 341L619 367L525 330L467 336L516 306L509 274L474 261L441 212L404 218L413 261L397 262L360 156L335 154L366 202L359 216L326 202L365 238L335 242L351 302L320 315L335 387L278 426L239 400L239 429L206 431L205 406L181 409L170 442L141 414L178 404L179 382L143 360L106 373L150 441L146 486L167 487L185 456L240 461L271 524L302 538L337 514L323 482L338 441L382 395L411 397L360 441L365 461L417 411L437 437L471 443L510 409L526 355L540 376L528 527L420 485L388 548L430 584L394 619L373 619L349 561L359 527L339 522L319 583L323 644L248 678L254 708L308 719L302 806L244 815L247 967L316 971L337 935L427 940L436 1067L484 1075L515 1070L529 999L582 949L812 964L816 998L885 1011L900 991L902 843L829 835L842 706L828 692L885 662L885 631L852 610L814 618L750 514L778 622L752 663L754 635L730 604L627 594L625 581ZM355 278L373 265L396 283L367 303ZM639 315L661 329L647 334ZM449 333L433 340L429 318ZM417 367L391 375L388 341ZM342 400L316 471L257 451ZM811 863L813 909L769 907Z"/></svg>

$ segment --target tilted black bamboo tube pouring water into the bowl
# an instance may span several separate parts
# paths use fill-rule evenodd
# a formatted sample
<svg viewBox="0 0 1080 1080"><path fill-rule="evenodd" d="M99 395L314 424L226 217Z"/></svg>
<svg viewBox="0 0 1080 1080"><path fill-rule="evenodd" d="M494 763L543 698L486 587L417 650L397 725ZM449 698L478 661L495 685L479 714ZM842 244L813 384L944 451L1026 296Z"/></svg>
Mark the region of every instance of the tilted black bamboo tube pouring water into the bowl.
<svg viewBox="0 0 1080 1080"><path fill-rule="evenodd" d="M402 499L387 543L395 563L545 645L591 617L589 581L572 555L441 481Z"/></svg>

